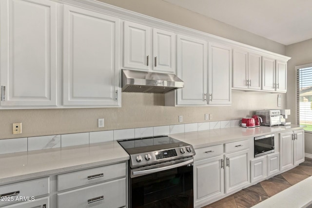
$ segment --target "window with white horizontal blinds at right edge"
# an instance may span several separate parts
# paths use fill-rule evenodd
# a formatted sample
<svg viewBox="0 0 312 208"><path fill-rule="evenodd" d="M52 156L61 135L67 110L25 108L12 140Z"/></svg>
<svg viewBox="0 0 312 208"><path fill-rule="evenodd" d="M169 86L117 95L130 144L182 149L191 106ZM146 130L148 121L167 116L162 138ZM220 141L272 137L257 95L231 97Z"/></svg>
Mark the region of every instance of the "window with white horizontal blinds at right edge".
<svg viewBox="0 0 312 208"><path fill-rule="evenodd" d="M312 64L296 67L297 71L297 124L312 132Z"/></svg>

